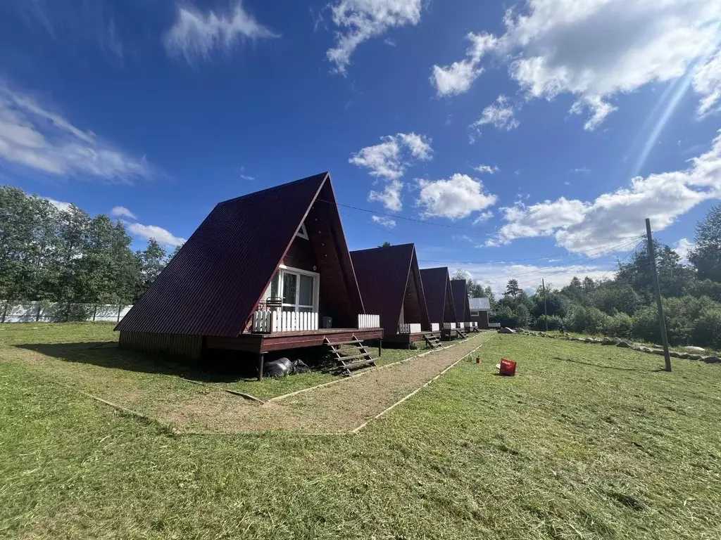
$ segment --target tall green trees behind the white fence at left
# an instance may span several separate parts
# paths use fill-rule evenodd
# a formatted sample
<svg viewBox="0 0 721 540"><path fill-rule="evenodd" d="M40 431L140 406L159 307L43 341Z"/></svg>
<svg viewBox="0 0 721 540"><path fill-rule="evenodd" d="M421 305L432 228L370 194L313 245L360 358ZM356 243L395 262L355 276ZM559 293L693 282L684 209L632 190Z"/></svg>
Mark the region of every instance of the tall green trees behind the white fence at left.
<svg viewBox="0 0 721 540"><path fill-rule="evenodd" d="M0 186L0 299L130 305L169 259L156 240L132 241L120 220Z"/></svg>

